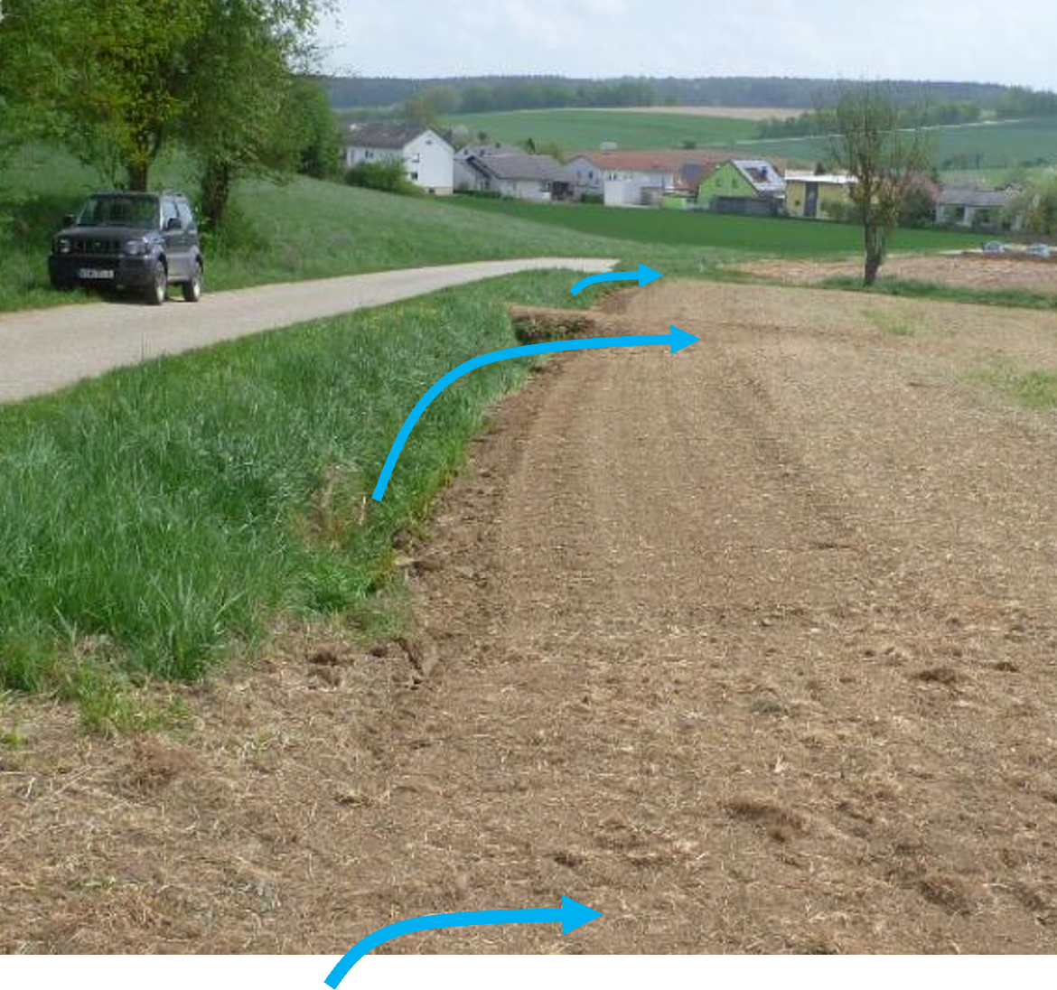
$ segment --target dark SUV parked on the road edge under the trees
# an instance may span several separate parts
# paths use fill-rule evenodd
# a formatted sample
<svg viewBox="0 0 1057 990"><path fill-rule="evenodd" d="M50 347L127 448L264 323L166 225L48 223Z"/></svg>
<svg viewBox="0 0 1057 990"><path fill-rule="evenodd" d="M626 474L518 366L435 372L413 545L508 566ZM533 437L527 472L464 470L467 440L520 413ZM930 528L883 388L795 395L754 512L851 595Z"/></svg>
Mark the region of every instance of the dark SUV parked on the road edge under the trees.
<svg viewBox="0 0 1057 990"><path fill-rule="evenodd" d="M202 298L198 224L182 193L96 192L64 222L48 259L56 288L130 288L161 305L180 285L188 302Z"/></svg>

